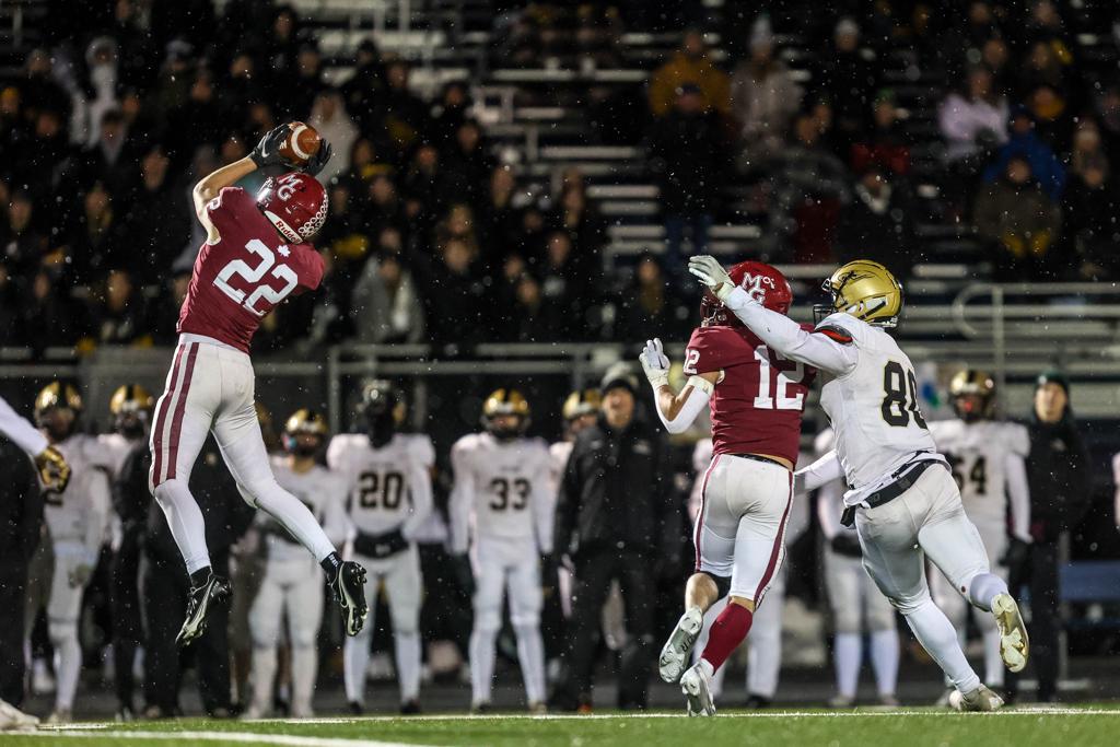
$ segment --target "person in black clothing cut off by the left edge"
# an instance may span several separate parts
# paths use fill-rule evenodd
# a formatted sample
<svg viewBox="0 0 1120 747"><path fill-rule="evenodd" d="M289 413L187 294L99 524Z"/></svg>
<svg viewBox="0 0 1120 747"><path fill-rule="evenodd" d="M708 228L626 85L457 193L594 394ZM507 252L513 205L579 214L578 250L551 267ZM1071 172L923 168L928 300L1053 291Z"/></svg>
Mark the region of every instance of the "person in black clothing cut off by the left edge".
<svg viewBox="0 0 1120 747"><path fill-rule="evenodd" d="M0 699L24 702L24 606L27 567L39 544L43 496L35 468L0 439Z"/></svg>

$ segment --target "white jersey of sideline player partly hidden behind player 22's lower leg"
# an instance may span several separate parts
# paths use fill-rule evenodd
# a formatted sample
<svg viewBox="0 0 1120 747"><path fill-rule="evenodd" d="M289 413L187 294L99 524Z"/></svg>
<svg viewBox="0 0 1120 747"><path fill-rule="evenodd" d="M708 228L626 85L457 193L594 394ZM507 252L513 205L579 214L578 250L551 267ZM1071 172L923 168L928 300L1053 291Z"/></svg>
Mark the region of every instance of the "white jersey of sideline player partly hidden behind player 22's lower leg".
<svg viewBox="0 0 1120 747"><path fill-rule="evenodd" d="M346 521L347 485L342 475L319 465L305 473L297 473L288 466L288 459L282 456L272 457L270 461L272 474L276 475L280 487L308 507L332 542L335 544L345 542L349 523ZM269 560L287 561L309 557L304 545L263 511L256 512L253 523L264 535Z"/></svg>

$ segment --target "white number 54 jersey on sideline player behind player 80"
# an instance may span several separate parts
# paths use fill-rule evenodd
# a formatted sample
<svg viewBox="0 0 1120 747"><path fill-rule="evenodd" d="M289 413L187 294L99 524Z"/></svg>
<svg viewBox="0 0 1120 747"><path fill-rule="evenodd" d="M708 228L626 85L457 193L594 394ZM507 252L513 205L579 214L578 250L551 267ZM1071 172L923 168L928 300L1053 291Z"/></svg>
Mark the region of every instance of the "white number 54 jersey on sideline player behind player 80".
<svg viewBox="0 0 1120 747"><path fill-rule="evenodd" d="M972 523L983 529L1006 526L1010 501L1015 534L1029 538L1030 497L1024 463L1030 452L1027 429L993 420L942 420L930 423L930 431L949 460Z"/></svg>

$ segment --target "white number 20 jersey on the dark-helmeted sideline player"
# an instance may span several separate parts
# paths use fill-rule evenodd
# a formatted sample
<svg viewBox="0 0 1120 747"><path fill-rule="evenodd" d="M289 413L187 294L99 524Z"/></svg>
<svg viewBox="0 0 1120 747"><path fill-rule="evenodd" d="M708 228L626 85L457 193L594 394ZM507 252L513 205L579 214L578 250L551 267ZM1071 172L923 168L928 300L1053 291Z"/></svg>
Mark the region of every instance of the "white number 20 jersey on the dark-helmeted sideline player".
<svg viewBox="0 0 1120 747"><path fill-rule="evenodd" d="M327 448L327 464L349 488L347 513L357 530L400 530L409 540L431 513L435 461L431 439L421 435L395 433L379 449L365 433L344 433Z"/></svg>

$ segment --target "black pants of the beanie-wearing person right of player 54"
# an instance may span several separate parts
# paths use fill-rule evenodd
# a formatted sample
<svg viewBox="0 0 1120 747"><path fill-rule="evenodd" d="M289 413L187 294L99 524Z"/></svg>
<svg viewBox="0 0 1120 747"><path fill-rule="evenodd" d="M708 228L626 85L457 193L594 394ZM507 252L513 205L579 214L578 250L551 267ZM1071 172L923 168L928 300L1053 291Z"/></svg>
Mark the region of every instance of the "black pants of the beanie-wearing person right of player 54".
<svg viewBox="0 0 1120 747"><path fill-rule="evenodd" d="M1026 562L1011 575L1011 594L1026 586L1030 589L1030 663L1038 676L1038 700L1048 702L1057 695L1058 642L1062 618L1057 580L1057 542L1035 542ZM1007 673L1007 691L1016 693L1019 675Z"/></svg>

